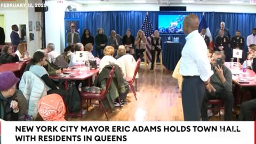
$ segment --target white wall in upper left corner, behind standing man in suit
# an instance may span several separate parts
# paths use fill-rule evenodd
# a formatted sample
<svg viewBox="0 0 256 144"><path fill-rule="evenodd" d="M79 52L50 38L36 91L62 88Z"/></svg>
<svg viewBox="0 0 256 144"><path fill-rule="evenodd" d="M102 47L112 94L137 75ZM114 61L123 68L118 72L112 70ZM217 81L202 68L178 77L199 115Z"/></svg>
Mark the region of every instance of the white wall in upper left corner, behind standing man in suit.
<svg viewBox="0 0 256 144"><path fill-rule="evenodd" d="M0 5L2 4L21 4L25 3L25 0L18 1L1 1ZM6 6L6 5L5 5ZM12 25L24 25L27 23L28 17L26 12L26 6L23 7L5 7L4 5L1 6L0 13L5 15L5 42L10 43L11 38L10 34L12 33ZM20 29L19 29L20 30Z"/></svg>

